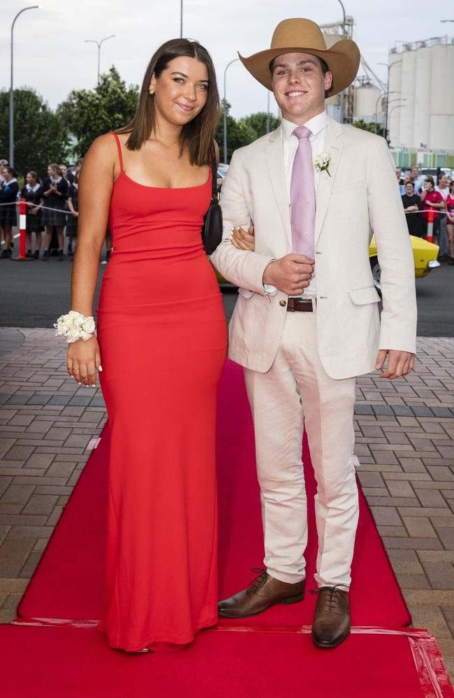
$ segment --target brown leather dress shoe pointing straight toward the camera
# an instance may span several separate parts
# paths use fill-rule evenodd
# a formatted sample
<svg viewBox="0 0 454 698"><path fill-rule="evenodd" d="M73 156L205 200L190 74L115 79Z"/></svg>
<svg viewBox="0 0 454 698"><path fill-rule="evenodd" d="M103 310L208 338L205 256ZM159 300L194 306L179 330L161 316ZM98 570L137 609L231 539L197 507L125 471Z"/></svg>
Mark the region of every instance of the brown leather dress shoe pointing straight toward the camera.
<svg viewBox="0 0 454 698"><path fill-rule="evenodd" d="M336 586L322 586L318 591L312 639L317 647L336 647L350 634L349 593Z"/></svg>

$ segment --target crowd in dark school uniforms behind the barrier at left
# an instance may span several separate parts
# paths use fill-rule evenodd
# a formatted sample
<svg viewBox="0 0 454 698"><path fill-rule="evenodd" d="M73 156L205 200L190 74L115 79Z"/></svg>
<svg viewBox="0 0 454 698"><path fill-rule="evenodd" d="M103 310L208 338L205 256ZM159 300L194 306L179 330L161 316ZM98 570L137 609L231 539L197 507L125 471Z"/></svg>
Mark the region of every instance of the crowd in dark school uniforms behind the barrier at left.
<svg viewBox="0 0 454 698"><path fill-rule="evenodd" d="M72 258L78 239L78 181L83 158L72 168L64 164L51 163L47 176L40 180L37 172L30 170L22 188L17 181L17 172L6 160L0 160L0 241L3 246L0 259L13 255L13 228L17 225L17 201L27 205L25 256L47 261L56 255L58 261L66 256ZM66 237L66 249L65 249ZM112 248L110 230L106 232L106 258L108 262Z"/></svg>

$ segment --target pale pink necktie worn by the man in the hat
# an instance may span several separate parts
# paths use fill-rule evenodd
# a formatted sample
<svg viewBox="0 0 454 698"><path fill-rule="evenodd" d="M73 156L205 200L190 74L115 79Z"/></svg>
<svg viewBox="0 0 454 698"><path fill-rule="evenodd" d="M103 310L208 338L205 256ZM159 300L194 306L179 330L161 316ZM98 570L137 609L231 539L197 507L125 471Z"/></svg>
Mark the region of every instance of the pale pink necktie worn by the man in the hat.
<svg viewBox="0 0 454 698"><path fill-rule="evenodd" d="M309 142L312 131L306 126L297 126L293 134L298 138L290 184L293 252L315 259L315 186Z"/></svg>

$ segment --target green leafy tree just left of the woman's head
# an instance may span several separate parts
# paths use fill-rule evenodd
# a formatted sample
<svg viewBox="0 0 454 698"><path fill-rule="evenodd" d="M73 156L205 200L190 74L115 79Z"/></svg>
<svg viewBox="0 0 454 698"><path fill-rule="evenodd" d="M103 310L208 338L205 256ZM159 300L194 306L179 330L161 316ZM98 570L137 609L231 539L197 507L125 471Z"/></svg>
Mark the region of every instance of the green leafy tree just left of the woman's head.
<svg viewBox="0 0 454 698"><path fill-rule="evenodd" d="M75 156L84 156L98 135L126 126L137 103L138 86L126 87L115 66L94 89L73 90L57 111L75 137Z"/></svg>

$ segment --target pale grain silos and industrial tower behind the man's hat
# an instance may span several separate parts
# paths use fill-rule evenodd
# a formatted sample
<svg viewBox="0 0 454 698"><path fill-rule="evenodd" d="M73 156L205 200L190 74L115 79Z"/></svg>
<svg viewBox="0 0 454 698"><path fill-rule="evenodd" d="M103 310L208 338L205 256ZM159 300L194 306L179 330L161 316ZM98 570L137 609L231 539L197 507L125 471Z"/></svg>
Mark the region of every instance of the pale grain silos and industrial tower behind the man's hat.
<svg viewBox="0 0 454 698"><path fill-rule="evenodd" d="M353 17L346 24L323 25L328 47L353 37ZM365 121L388 129L390 148L402 167L454 168L454 39L433 37L399 43L390 50L388 84L362 56L353 85L328 99L328 114L337 121Z"/></svg>

